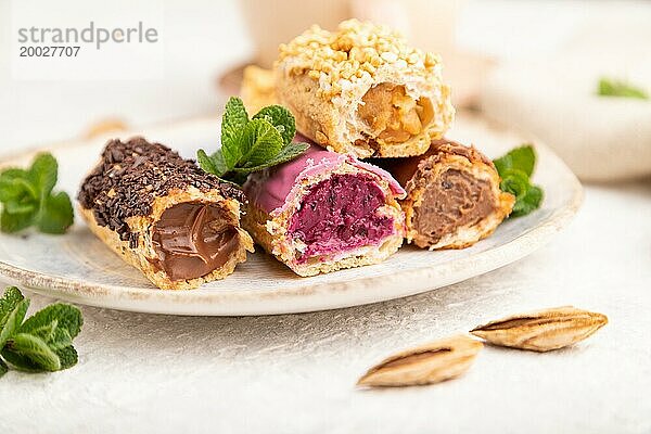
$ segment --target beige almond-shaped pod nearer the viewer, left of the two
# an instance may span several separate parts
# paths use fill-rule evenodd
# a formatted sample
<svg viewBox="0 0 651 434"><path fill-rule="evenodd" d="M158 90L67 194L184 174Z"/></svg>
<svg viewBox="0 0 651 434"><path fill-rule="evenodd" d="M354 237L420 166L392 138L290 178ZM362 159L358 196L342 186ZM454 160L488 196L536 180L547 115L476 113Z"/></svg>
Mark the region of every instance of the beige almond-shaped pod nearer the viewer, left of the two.
<svg viewBox="0 0 651 434"><path fill-rule="evenodd" d="M450 380L470 368L482 347L467 335L435 341L390 356L363 374L357 385L411 386Z"/></svg>

